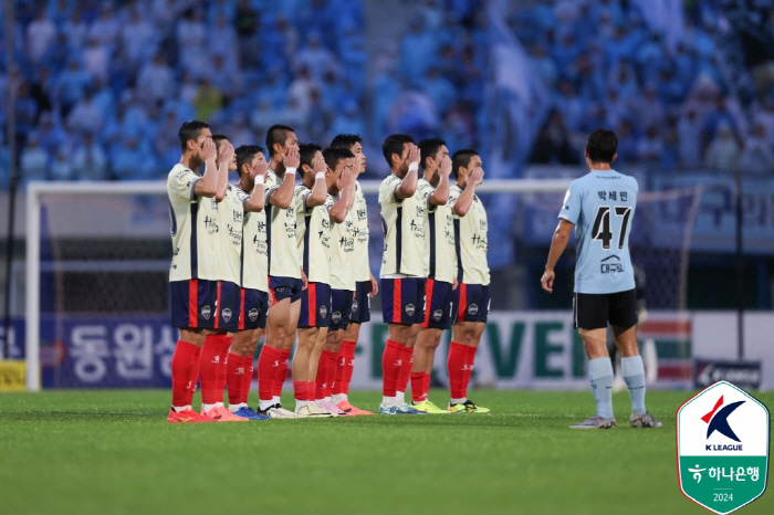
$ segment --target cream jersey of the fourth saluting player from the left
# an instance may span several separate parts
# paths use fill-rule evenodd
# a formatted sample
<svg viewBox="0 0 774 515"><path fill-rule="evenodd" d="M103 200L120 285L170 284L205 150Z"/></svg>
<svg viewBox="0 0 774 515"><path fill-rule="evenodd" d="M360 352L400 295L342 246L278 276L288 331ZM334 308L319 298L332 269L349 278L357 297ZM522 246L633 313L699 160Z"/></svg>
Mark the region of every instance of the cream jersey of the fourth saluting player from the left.
<svg viewBox="0 0 774 515"><path fill-rule="evenodd" d="M295 180L295 177L287 177ZM282 180L271 168L266 172L266 241L269 242L269 275L272 277L301 278L301 259L295 239L295 203L282 209L269 203L272 191Z"/></svg>

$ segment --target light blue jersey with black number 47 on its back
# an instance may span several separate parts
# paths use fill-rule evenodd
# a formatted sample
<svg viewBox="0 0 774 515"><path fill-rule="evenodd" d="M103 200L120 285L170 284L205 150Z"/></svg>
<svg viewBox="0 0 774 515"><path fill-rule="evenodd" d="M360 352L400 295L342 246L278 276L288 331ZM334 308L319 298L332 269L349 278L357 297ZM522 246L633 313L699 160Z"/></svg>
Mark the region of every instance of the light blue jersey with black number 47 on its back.
<svg viewBox="0 0 774 515"><path fill-rule="evenodd" d="M594 170L569 185L559 218L575 224L576 293L635 287L629 232L639 187L634 177Z"/></svg>

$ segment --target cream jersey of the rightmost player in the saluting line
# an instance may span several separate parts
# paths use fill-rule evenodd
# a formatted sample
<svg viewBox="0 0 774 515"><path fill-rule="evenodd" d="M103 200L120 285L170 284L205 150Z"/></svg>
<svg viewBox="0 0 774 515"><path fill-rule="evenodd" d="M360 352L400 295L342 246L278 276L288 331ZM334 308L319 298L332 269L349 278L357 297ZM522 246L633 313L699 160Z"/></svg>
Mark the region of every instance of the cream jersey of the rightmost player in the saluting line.
<svg viewBox="0 0 774 515"><path fill-rule="evenodd" d="M449 190L449 207L452 208L462 195L462 188L454 185ZM489 284L487 262L487 210L481 199L473 196L473 202L464 217L452 216L454 241L457 243L457 280L464 284Z"/></svg>

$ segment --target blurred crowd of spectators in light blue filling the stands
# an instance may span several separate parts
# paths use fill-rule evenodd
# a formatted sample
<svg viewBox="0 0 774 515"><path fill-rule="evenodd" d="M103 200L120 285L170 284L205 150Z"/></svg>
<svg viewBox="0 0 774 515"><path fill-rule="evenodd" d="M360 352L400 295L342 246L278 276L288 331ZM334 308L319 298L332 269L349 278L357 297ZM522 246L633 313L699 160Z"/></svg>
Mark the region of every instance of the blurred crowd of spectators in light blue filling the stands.
<svg viewBox="0 0 774 515"><path fill-rule="evenodd" d="M768 14L742 21L774 36L774 1L751 1ZM6 65L3 33L0 95L17 95L22 179L160 178L179 159L177 129L191 118L234 145L262 141L283 123L304 140L401 132L441 135L453 149L485 146L485 2L402 2L402 33L370 54L364 3L17 1L15 69ZM504 2L553 96L530 161L577 164L585 135L607 126L621 164L772 174L771 67L744 98L738 80L750 63L723 54L739 22L726 6L734 1L684 2L677 40L650 29L641 3ZM7 119L0 102L0 125ZM4 130L0 138L6 188Z"/></svg>

